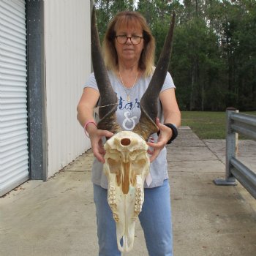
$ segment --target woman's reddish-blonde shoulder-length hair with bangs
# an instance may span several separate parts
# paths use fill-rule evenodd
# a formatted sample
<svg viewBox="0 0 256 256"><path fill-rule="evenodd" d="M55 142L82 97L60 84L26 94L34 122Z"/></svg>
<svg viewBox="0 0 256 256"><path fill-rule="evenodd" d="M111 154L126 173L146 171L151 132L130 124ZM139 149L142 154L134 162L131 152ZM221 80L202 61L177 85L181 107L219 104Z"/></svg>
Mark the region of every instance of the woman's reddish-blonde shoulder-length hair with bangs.
<svg viewBox="0 0 256 256"><path fill-rule="evenodd" d="M156 43L151 34L151 30L146 23L146 19L139 12L118 12L118 14L110 20L102 43L105 66L110 70L118 69L118 56L116 53L115 40L116 30L122 26L132 26L136 29L142 29L144 48L140 55L138 67L143 70L144 76L151 75L154 72L154 52Z"/></svg>

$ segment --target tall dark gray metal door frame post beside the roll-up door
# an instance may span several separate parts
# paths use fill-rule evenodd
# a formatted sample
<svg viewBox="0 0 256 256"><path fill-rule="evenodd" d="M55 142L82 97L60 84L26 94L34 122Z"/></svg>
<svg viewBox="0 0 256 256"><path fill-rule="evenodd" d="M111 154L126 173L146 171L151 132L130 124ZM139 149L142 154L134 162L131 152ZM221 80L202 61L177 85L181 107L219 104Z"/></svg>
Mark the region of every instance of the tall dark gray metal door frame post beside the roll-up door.
<svg viewBox="0 0 256 256"><path fill-rule="evenodd" d="M44 1L26 1L29 171L33 180L48 179Z"/></svg>

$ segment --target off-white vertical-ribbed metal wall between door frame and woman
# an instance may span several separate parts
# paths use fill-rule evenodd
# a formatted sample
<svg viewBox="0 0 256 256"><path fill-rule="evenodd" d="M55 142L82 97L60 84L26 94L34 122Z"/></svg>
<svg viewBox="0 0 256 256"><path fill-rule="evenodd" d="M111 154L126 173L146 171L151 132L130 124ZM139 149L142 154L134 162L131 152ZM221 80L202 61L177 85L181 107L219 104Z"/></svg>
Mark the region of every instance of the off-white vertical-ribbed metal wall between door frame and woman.
<svg viewBox="0 0 256 256"><path fill-rule="evenodd" d="M90 1L44 3L49 177L90 147L76 118L91 71Z"/></svg>

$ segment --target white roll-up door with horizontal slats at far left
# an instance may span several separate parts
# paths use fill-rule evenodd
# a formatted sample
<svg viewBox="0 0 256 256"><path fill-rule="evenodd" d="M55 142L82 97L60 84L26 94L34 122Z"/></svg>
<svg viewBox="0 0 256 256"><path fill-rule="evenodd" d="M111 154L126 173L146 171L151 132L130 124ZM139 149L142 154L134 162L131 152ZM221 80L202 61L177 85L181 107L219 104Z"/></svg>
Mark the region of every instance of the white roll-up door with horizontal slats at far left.
<svg viewBox="0 0 256 256"><path fill-rule="evenodd" d="M0 1L0 195L29 178L25 1Z"/></svg>

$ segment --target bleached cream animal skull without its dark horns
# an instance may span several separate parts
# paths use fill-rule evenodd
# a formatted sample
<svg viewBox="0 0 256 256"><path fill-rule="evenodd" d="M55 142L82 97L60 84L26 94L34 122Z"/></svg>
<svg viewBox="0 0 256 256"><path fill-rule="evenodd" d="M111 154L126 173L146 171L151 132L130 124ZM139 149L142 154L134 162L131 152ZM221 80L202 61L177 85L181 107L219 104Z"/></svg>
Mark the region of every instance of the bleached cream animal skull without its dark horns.
<svg viewBox="0 0 256 256"><path fill-rule="evenodd" d="M121 252L129 252L133 246L135 221L143 205L143 184L149 171L147 149L145 140L135 132L118 132L105 143L108 204L116 221L117 244Z"/></svg>

